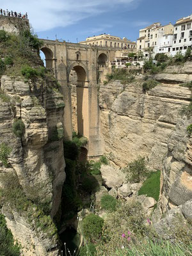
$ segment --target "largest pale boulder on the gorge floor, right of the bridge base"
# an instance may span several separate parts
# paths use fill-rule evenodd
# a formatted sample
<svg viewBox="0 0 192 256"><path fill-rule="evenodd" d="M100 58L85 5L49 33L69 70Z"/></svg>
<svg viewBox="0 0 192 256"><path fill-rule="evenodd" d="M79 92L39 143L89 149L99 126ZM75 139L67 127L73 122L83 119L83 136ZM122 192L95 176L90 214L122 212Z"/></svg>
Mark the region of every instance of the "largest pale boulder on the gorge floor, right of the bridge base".
<svg viewBox="0 0 192 256"><path fill-rule="evenodd" d="M125 180L124 173L106 164L102 164L100 172L104 180L104 185L108 188L119 188Z"/></svg>

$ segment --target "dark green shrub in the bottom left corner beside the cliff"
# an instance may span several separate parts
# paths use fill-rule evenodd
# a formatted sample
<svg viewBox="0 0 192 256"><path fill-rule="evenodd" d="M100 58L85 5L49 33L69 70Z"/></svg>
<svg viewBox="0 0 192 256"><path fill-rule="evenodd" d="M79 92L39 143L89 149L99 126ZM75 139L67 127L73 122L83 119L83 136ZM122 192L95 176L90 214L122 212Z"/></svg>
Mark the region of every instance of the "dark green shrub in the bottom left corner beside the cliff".
<svg viewBox="0 0 192 256"><path fill-rule="evenodd" d="M6 221L2 214L0 214L0 255L20 255L20 248L17 243L14 243L12 232L6 227Z"/></svg>

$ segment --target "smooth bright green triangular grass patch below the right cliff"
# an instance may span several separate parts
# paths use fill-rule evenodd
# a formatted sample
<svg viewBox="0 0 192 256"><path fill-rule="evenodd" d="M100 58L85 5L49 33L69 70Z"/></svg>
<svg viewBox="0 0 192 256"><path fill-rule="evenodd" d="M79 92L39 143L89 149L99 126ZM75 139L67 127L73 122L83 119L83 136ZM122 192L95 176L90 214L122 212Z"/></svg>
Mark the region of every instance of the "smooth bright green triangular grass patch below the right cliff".
<svg viewBox="0 0 192 256"><path fill-rule="evenodd" d="M150 176L147 180L145 180L145 182L143 182L143 186L141 186L140 190L138 191L138 195L147 195L158 201L160 191L160 175L161 171L150 173Z"/></svg>

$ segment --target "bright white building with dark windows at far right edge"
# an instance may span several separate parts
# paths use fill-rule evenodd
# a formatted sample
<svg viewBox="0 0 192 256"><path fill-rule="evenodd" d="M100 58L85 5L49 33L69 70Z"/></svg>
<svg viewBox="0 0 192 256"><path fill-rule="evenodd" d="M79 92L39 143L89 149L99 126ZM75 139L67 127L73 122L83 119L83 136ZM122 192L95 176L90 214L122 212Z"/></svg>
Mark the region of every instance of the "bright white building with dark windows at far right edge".
<svg viewBox="0 0 192 256"><path fill-rule="evenodd" d="M176 21L173 32L172 56L177 52L184 54L192 45L192 14Z"/></svg>

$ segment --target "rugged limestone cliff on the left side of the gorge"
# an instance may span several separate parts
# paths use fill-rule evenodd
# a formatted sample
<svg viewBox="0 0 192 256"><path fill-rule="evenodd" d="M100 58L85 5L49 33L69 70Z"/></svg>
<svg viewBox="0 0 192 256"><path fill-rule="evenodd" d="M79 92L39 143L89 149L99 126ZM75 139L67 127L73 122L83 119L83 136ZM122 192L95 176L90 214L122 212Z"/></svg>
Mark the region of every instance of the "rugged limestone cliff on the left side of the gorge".
<svg viewBox="0 0 192 256"><path fill-rule="evenodd" d="M9 202L4 203L2 212L22 244L23 255L58 255L52 220L36 205L53 217L61 202L65 180L63 108L63 97L51 81L24 83L20 77L1 77L0 145L9 148L10 154L6 164L0 162L0 175L2 179L3 175L14 175L28 200L20 212ZM13 133L18 120L25 127L22 138Z"/></svg>

